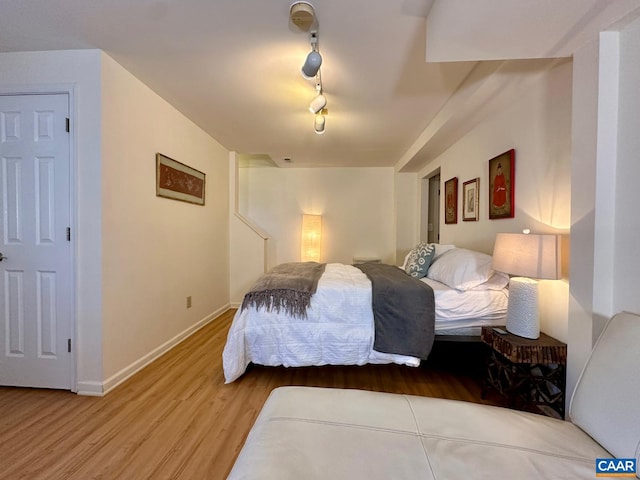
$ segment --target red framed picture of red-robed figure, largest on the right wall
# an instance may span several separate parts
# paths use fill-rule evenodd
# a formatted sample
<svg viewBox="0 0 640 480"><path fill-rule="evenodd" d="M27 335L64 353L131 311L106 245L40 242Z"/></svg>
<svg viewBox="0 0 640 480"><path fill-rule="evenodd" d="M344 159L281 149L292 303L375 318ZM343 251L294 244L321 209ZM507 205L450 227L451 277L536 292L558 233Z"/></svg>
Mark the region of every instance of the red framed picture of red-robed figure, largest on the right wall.
<svg viewBox="0 0 640 480"><path fill-rule="evenodd" d="M489 160L489 218L515 216L516 151L511 149Z"/></svg>

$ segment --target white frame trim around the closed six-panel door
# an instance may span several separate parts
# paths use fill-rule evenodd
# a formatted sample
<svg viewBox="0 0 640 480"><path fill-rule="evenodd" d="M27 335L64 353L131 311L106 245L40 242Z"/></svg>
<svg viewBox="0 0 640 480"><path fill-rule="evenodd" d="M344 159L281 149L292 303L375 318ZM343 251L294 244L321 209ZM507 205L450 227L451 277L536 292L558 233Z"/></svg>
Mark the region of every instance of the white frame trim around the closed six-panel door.
<svg viewBox="0 0 640 480"><path fill-rule="evenodd" d="M0 95L2 96L20 96L20 95L67 95L69 102L69 219L71 225L71 259L69 268L71 269L70 275L70 295L71 295L71 318L69 336L71 337L71 353L69 359L70 365L70 382L71 391L78 392L78 365L77 365L77 352L78 352L78 302L77 302L77 257L78 257L78 242L75 241L75 236L78 232L78 217L77 217L77 164L76 164L76 151L77 151L77 129L76 121L77 105L76 105L76 87L73 84L39 84L39 85L18 85L13 87L0 86Z"/></svg>

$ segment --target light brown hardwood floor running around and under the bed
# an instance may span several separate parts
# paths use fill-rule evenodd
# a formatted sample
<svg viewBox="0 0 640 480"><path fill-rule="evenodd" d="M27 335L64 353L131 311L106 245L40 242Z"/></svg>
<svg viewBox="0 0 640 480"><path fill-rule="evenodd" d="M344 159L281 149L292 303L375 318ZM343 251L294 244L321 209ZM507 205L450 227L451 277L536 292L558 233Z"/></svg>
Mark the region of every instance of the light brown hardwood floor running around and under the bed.
<svg viewBox="0 0 640 480"><path fill-rule="evenodd" d="M224 479L267 396L281 385L501 404L480 399L480 344L437 344L420 368L253 366L224 385L221 356L234 313L103 398L0 387L0 478Z"/></svg>

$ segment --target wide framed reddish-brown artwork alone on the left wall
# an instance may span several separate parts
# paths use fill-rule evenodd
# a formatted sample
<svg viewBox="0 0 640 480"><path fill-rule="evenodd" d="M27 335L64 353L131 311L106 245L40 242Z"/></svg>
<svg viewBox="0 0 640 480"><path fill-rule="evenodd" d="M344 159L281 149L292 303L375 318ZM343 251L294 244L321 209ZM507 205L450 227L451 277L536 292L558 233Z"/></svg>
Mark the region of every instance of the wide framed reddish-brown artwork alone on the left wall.
<svg viewBox="0 0 640 480"><path fill-rule="evenodd" d="M205 174L156 153L156 195L204 205Z"/></svg>

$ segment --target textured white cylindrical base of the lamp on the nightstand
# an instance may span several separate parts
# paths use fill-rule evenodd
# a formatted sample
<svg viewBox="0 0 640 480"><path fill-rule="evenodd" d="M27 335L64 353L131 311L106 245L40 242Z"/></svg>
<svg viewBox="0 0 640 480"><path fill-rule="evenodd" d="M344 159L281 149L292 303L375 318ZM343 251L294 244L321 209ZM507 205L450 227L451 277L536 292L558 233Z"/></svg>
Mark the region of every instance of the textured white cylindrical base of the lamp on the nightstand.
<svg viewBox="0 0 640 480"><path fill-rule="evenodd" d="M526 277L509 280L507 331L519 337L540 338L538 282Z"/></svg>

